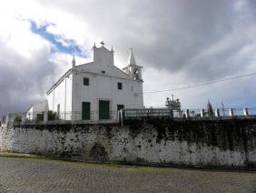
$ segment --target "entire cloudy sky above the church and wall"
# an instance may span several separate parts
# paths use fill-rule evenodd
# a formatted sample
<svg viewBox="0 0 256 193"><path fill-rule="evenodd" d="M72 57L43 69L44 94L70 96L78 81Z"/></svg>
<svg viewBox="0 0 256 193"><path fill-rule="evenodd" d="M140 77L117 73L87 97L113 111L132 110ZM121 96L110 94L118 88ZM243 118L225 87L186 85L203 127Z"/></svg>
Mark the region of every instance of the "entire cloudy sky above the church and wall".
<svg viewBox="0 0 256 193"><path fill-rule="evenodd" d="M70 68L91 60L94 41L113 46L126 66L133 47L143 90L192 86L256 72L254 0L31 0L0 5L0 115L44 100ZM146 107L166 96L182 108L256 107L256 76L211 86L144 94Z"/></svg>

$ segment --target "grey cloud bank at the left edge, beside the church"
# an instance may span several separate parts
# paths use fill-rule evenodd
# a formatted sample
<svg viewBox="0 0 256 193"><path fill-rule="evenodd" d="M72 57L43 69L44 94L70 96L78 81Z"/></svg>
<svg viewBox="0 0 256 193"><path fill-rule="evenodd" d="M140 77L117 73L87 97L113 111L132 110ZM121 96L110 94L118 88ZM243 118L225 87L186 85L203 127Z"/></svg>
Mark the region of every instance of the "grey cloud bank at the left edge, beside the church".
<svg viewBox="0 0 256 193"><path fill-rule="evenodd" d="M33 59L19 56L0 41L0 116L25 112L53 82L54 67L48 62L48 50L35 52Z"/></svg>

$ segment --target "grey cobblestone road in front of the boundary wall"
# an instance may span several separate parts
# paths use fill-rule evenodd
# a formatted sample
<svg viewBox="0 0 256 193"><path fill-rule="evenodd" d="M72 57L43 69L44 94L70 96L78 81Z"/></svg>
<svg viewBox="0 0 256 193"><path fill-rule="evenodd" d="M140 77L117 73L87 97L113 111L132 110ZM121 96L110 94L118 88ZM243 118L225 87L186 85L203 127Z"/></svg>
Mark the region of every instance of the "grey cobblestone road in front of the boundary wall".
<svg viewBox="0 0 256 193"><path fill-rule="evenodd" d="M0 192L256 192L256 172L0 157Z"/></svg>

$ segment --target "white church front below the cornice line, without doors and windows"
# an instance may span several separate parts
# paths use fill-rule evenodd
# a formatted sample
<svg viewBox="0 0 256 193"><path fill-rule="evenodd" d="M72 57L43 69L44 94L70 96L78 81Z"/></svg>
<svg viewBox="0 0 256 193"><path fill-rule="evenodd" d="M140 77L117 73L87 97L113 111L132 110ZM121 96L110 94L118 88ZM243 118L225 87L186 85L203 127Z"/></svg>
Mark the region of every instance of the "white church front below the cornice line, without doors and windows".
<svg viewBox="0 0 256 193"><path fill-rule="evenodd" d="M89 78L89 86L84 86L84 77ZM118 82L123 84L122 90L118 89ZM117 105L123 105L125 108L143 108L142 93L143 83L141 81L78 72L74 75L73 110L82 113L82 102L90 102L91 118L98 119L99 100L106 100L110 101L111 117L114 119L117 116ZM79 116L81 118L82 114Z"/></svg>

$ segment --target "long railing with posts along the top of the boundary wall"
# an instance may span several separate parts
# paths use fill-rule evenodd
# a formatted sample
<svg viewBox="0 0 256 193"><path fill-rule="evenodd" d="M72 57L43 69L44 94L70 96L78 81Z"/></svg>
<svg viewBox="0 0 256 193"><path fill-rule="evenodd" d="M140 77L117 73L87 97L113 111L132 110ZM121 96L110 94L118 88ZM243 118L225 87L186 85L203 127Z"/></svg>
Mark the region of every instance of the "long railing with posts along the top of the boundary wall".
<svg viewBox="0 0 256 193"><path fill-rule="evenodd" d="M256 116L256 107L249 108L214 108L207 109L182 109L172 110L170 108L125 108L121 111L110 111L104 115L105 120L123 120L143 117L249 117ZM101 119L99 112L91 111L90 115L84 115L81 111L45 111L8 114L3 117L1 123L29 123L34 121L94 121Z"/></svg>

